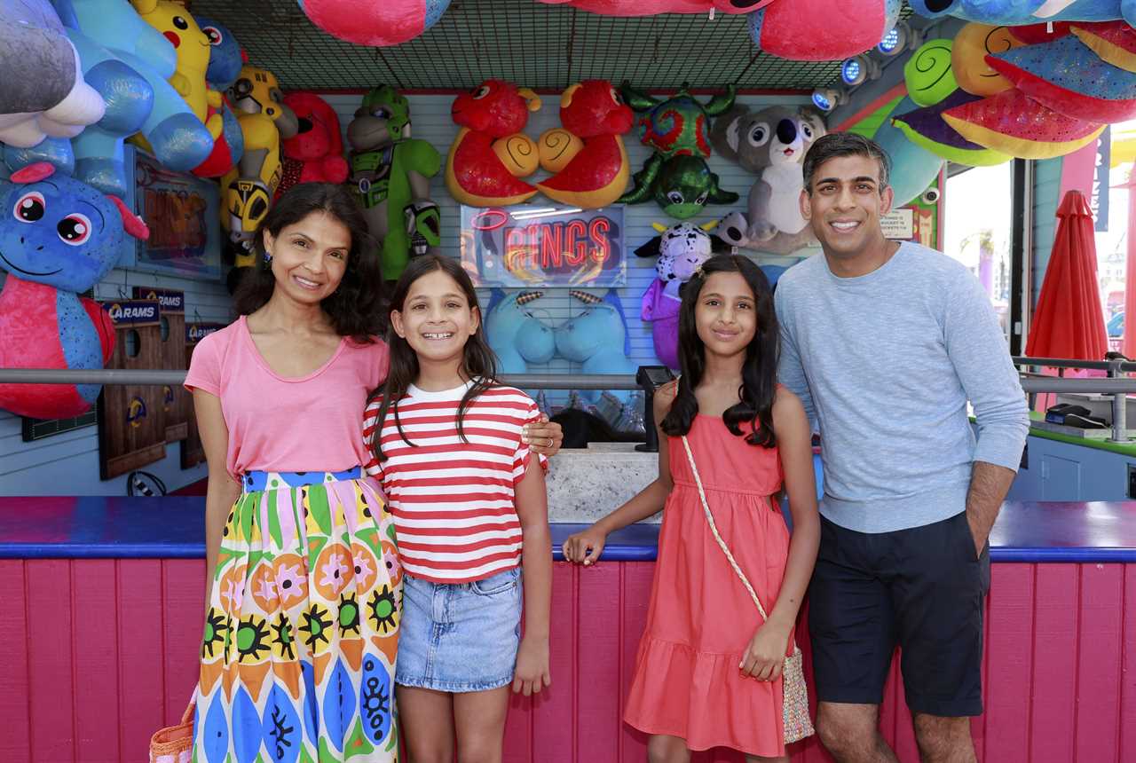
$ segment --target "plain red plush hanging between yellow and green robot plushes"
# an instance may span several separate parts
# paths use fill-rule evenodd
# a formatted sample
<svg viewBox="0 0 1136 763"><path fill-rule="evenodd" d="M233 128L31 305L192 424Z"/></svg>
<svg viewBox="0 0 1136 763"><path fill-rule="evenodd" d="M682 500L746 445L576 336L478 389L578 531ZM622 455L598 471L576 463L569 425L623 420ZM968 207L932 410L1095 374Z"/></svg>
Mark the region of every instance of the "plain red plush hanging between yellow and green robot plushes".
<svg viewBox="0 0 1136 763"><path fill-rule="evenodd" d="M296 118L296 133L281 144L284 153L276 198L296 183L343 183L351 174L343 158L340 118L327 101L315 93L289 93L284 106Z"/></svg>

